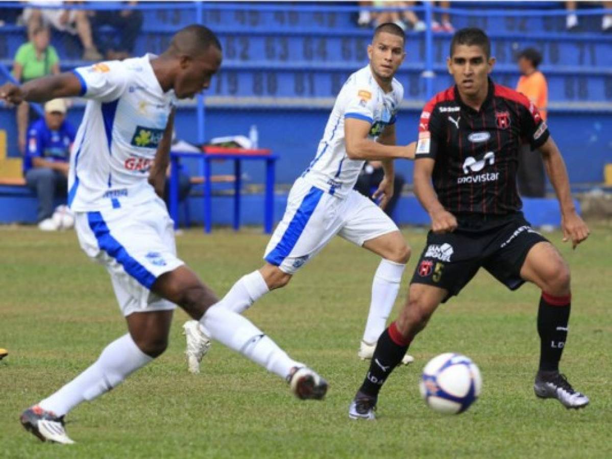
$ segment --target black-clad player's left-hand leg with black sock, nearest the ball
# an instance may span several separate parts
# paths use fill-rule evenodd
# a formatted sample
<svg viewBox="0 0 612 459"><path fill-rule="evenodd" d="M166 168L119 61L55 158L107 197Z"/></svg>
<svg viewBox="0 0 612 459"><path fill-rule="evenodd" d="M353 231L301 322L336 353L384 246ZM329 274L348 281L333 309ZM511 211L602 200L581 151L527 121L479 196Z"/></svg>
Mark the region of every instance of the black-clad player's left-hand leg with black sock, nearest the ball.
<svg viewBox="0 0 612 459"><path fill-rule="evenodd" d="M391 372L401 363L412 339L425 328L436 307L448 296L444 288L411 284L409 299L396 321L378 339L370 368L351 406L351 419L375 419L378 393Z"/></svg>

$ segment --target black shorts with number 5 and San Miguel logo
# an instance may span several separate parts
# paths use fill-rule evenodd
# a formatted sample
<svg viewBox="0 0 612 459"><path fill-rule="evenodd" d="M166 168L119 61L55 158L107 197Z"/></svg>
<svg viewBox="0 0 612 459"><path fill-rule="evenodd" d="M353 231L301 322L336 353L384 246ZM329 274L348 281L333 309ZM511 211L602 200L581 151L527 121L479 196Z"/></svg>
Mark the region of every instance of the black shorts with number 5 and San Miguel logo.
<svg viewBox="0 0 612 459"><path fill-rule="evenodd" d="M532 229L522 213L488 229L463 229L452 233L429 232L427 244L412 276L411 284L427 284L444 288L457 295L482 266L510 290L524 284L521 267L529 249L548 241Z"/></svg>

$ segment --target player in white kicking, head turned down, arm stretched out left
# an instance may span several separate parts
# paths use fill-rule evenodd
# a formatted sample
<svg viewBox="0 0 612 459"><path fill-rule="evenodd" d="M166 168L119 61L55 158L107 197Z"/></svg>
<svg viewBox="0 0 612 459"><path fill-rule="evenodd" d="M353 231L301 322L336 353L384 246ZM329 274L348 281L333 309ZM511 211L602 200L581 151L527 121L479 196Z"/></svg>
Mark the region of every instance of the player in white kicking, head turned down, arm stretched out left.
<svg viewBox="0 0 612 459"><path fill-rule="evenodd" d="M72 443L64 416L109 391L166 349L175 304L214 339L289 381L302 399L321 399L327 383L294 361L250 321L217 303L177 259L163 196L176 99L209 87L222 59L217 37L188 26L159 57L102 62L0 87L0 99L88 99L70 160L69 205L81 248L110 273L129 332L59 391L21 414L42 441Z"/></svg>

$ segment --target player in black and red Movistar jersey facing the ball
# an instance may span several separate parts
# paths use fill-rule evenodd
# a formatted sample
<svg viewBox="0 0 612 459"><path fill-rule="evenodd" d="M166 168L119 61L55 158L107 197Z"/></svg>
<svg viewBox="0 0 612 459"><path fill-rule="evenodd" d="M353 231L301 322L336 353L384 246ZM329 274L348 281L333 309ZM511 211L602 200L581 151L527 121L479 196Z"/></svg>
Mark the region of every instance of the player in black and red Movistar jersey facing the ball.
<svg viewBox="0 0 612 459"><path fill-rule="evenodd" d="M589 229L573 206L564 161L537 108L488 77L495 62L490 50L480 29L458 31L447 59L455 86L437 94L421 114L414 192L431 217L431 231L409 299L379 338L351 403L353 419L374 419L378 392L412 339L436 307L457 295L481 267L511 290L525 281L542 289L535 395L557 398L567 408L589 403L559 373L570 315L570 271L521 213L516 185L521 142L542 155L561 206L563 240L576 248Z"/></svg>

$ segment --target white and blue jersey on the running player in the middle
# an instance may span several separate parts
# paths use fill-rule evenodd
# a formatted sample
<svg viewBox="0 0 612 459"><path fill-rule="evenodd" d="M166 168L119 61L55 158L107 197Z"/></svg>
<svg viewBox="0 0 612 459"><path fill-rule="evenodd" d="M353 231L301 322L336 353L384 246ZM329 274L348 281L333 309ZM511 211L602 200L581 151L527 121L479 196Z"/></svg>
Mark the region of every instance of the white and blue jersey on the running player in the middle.
<svg viewBox="0 0 612 459"><path fill-rule="evenodd" d="M378 86L370 65L349 76L336 98L325 133L302 177L308 183L338 197L346 197L359 177L364 161L346 155L344 123L356 118L370 123L368 138L376 140L387 125L395 123L404 89L393 79L392 90L385 93Z"/></svg>

